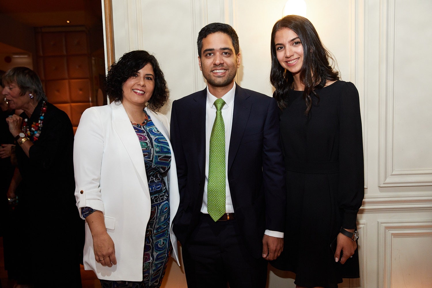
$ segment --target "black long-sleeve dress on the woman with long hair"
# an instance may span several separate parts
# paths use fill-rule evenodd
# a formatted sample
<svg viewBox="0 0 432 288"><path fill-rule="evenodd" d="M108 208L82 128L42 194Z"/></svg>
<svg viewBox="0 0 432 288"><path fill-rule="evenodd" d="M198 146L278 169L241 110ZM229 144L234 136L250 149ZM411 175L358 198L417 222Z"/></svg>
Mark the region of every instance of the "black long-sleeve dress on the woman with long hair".
<svg viewBox="0 0 432 288"><path fill-rule="evenodd" d="M342 265L330 243L341 227L356 228L364 196L362 123L353 83L316 92L308 116L303 91L290 91L280 114L287 215L284 250L272 265L295 272L296 285L327 288L359 277L357 250Z"/></svg>

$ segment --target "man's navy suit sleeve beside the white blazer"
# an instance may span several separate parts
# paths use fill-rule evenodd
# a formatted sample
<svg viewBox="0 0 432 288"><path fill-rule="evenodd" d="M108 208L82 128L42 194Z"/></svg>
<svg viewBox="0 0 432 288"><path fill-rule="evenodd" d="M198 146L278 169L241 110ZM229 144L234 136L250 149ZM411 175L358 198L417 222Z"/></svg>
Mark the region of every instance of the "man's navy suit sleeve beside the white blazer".
<svg viewBox="0 0 432 288"><path fill-rule="evenodd" d="M177 101L172 102L171 110L171 125L170 125L170 141L175 155L175 163L177 168L178 191L180 193L180 206L178 211L183 210L184 193L187 180L187 164L184 157L183 142L181 141L181 133L178 122Z"/></svg>

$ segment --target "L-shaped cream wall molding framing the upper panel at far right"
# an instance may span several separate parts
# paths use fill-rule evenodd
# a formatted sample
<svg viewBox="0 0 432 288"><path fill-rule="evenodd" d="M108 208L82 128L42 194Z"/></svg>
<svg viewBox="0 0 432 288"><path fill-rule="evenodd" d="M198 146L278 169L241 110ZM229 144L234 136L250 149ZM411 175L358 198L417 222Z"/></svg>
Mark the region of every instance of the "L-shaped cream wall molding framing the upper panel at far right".
<svg viewBox="0 0 432 288"><path fill-rule="evenodd" d="M396 170L394 168L394 115L395 115L395 24L396 1L380 1L379 38L379 186L432 185L432 169Z"/></svg>

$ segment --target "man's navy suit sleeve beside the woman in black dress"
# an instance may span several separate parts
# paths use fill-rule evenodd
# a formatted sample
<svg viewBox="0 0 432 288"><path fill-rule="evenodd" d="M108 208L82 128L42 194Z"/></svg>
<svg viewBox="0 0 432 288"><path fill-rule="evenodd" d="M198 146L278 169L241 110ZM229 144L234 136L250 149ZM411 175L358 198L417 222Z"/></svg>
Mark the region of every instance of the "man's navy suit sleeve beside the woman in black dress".
<svg viewBox="0 0 432 288"><path fill-rule="evenodd" d="M266 229L283 232L286 219L286 176L279 133L279 112L276 101L271 98L263 139Z"/></svg>

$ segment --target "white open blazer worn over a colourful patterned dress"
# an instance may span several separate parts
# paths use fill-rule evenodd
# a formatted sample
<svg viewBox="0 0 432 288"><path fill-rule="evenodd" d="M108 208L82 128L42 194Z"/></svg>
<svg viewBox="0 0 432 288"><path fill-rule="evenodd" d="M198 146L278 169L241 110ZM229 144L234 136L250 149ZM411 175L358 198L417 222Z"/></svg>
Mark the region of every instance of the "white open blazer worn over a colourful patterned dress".
<svg viewBox="0 0 432 288"><path fill-rule="evenodd" d="M146 112L173 151L168 118L148 108ZM95 261L92 234L86 223L84 268L93 270L98 279L142 281L150 194L140 142L121 102L84 111L75 134L73 166L79 215L83 207L104 213L117 258L117 265L111 268ZM165 182L170 202L172 256L180 265L177 238L172 232L172 219L180 201L173 154Z"/></svg>

